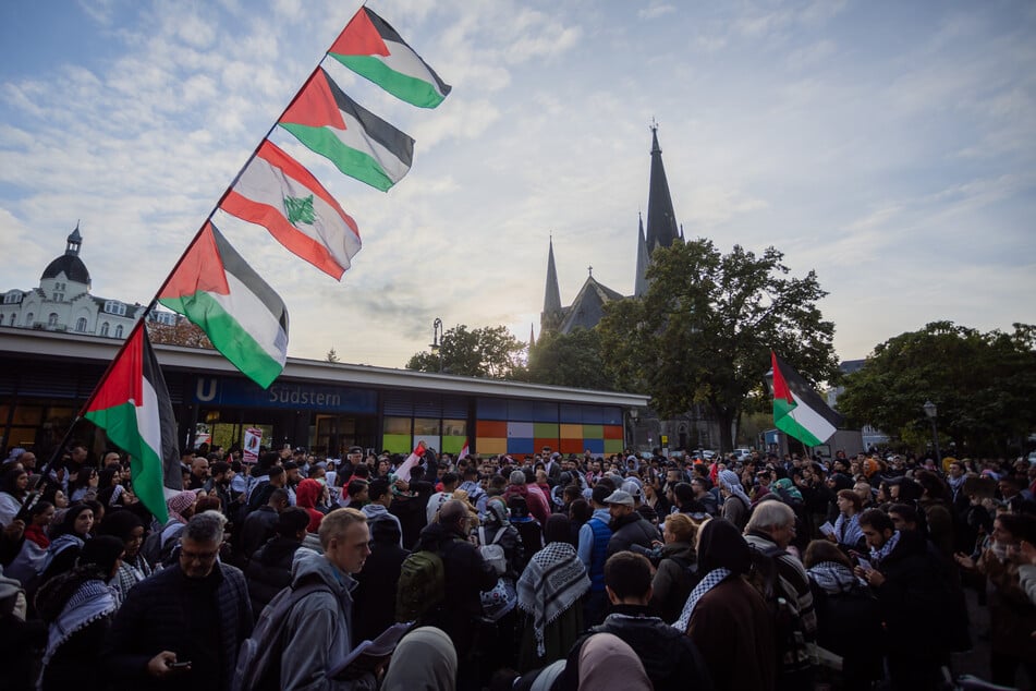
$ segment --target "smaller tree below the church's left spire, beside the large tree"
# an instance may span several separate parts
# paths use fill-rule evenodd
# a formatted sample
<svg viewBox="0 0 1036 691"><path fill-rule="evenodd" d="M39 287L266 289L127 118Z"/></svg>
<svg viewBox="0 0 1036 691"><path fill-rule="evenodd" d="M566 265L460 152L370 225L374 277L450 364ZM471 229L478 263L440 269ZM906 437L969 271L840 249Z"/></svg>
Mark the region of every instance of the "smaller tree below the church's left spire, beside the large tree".
<svg viewBox="0 0 1036 691"><path fill-rule="evenodd" d="M540 336L528 355L528 379L537 384L614 390L600 354L600 332L577 328Z"/></svg>

